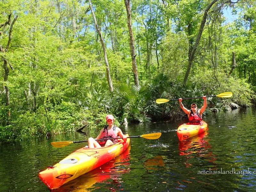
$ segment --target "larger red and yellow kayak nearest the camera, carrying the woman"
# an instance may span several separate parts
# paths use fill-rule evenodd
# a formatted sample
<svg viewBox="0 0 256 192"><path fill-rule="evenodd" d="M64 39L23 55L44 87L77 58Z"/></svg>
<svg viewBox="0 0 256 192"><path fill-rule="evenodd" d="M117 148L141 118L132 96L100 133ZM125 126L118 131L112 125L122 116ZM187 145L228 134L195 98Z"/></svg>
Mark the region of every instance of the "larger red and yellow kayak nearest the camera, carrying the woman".
<svg viewBox="0 0 256 192"><path fill-rule="evenodd" d="M40 172L39 178L49 189L59 188L120 155L127 149L129 143L130 138L127 138L126 141L120 140L108 147L80 148L59 163Z"/></svg>

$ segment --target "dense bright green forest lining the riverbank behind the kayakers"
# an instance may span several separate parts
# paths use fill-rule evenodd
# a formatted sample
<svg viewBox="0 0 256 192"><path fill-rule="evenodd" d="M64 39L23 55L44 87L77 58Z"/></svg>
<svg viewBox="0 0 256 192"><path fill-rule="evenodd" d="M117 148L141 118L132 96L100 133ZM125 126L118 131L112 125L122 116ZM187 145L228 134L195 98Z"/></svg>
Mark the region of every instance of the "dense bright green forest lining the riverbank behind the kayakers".
<svg viewBox="0 0 256 192"><path fill-rule="evenodd" d="M102 126L108 113L184 115L157 98L233 92L206 114L255 102L255 0L2 0L0 12L0 142Z"/></svg>

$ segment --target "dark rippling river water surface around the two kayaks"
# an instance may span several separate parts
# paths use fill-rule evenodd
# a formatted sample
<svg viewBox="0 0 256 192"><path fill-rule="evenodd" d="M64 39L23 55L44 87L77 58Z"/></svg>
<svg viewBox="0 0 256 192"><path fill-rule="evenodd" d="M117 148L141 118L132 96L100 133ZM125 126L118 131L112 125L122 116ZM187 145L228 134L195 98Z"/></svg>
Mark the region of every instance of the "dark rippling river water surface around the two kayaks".
<svg viewBox="0 0 256 192"><path fill-rule="evenodd" d="M181 121L121 127L130 136L162 136L131 139L125 153L54 191L255 191L255 112L249 108L206 116L209 130L183 142L175 131ZM72 133L1 145L0 191L49 191L38 172L86 145L53 148L50 142L89 136Z"/></svg>

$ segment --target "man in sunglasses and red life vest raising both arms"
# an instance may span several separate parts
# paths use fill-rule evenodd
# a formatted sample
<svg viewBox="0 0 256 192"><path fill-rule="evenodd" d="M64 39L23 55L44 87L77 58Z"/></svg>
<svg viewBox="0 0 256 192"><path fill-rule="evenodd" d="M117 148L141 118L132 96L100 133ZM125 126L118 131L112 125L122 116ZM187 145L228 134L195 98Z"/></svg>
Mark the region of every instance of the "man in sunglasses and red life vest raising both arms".
<svg viewBox="0 0 256 192"><path fill-rule="evenodd" d="M203 100L204 100L204 105L202 108L197 109L196 103L192 103L191 110L188 110L183 106L182 98L179 98L180 108L188 115L189 124L195 124L195 125L201 124L203 112L207 107L206 96L203 96Z"/></svg>

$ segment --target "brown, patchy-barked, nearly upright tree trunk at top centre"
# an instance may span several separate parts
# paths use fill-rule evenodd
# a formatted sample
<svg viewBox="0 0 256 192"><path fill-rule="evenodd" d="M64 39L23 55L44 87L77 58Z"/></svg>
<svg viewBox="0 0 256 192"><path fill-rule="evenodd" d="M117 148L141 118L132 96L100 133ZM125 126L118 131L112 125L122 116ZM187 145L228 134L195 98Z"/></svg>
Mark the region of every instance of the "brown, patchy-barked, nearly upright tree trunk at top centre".
<svg viewBox="0 0 256 192"><path fill-rule="evenodd" d="M127 26L129 30L129 36L130 36L130 51L132 56L132 70L133 70L133 77L134 77L134 83L137 87L140 86L139 84L139 77L138 77L138 69L137 69L137 63L136 63L136 54L135 54L135 45L134 45L134 38L132 34L132 20L131 20L131 7L130 7L130 0L124 0L125 8L127 12Z"/></svg>

